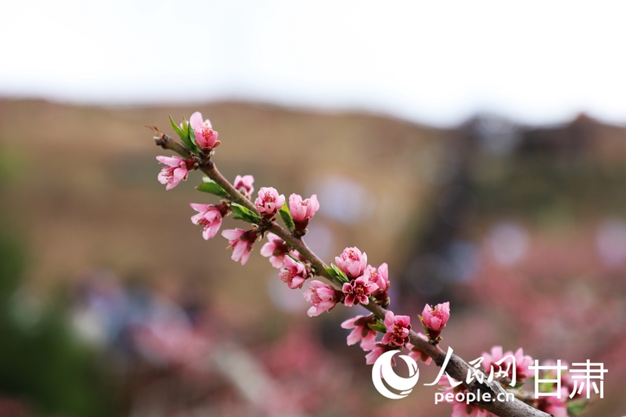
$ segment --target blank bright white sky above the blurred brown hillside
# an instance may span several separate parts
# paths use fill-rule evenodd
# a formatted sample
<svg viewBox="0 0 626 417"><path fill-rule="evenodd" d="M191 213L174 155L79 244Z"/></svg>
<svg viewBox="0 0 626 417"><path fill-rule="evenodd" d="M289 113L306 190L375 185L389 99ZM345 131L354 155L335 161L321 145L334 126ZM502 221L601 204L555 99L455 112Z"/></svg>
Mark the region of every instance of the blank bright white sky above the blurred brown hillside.
<svg viewBox="0 0 626 417"><path fill-rule="evenodd" d="M626 1L2 0L0 96L626 122Z"/></svg>

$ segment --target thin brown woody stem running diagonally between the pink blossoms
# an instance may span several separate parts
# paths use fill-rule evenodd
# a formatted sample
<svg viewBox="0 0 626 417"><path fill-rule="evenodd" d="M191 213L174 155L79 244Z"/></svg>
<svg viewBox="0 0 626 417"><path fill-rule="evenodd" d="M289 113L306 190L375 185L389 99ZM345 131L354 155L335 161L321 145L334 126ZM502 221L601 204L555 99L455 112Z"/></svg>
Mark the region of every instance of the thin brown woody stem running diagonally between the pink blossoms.
<svg viewBox="0 0 626 417"><path fill-rule="evenodd" d="M154 141L157 143L157 145L163 147L163 149L170 149L174 152L177 152L177 154L184 156L184 158L193 157L193 155L190 154L184 147L182 147L182 145L179 145L179 143L177 143L175 140L167 136L165 133L160 132L154 126L148 126L148 127L150 127L155 133L157 133L158 136L154 137ZM204 172L204 174L207 174L207 176L210 179L218 183L218 185L222 187L228 193L228 195L231 197L233 202L236 202L237 204L241 204L242 206L246 206L246 208L250 209L250 211L258 215L259 218L262 217L259 214L259 211L257 211L257 208L255 207L255 205L252 204L252 202L250 202L249 199L247 199L241 193L239 193L239 191L237 191L232 186L232 184L227 179L225 179L222 174L220 174L220 172L217 170L214 163L212 163L210 160L204 160L201 162L202 164L200 165L199 169L202 172ZM326 272L326 268L328 268L326 263L324 263L321 259L319 259L319 257L316 254L314 254L312 250L309 249L309 247L306 245L304 240L302 240L301 238L296 238L287 229L285 229L284 227L280 226L280 224L277 224L275 222L271 223L271 226L269 227L268 230L271 231L273 234L276 234L277 236L282 238L282 240L284 240L287 243L287 245L297 250L302 256L304 256L308 261L310 261L311 265L313 266L315 270L316 275L320 275L328 279L328 281L330 281L332 284L335 284L335 286L339 286L339 288L341 288L342 282L338 281L337 279L335 279L335 277L332 277L332 275ZM374 313L374 315L380 318L381 320L384 320L385 313L387 313L386 309L383 309L382 306L379 306L378 304L374 302L370 302L369 304L364 305L363 307L371 311L371 313ZM431 343L428 343L428 341L424 340L424 338L417 336L417 333L413 332L412 330L410 332L409 337L410 337L410 342L412 343L412 345L417 347L419 350L422 350L422 352L428 354L428 356L431 357L435 361L437 366L440 366L440 367L443 366L446 354L440 349L438 345L433 345ZM543 411L539 411L538 409L531 407L529 404L526 404L525 402L518 400L517 398L515 398L511 402L498 401L497 400L498 394L501 394L501 395L506 394L506 391L504 390L504 388L502 388L499 382L495 380L493 380L492 382L487 382L486 377L483 379L484 382L482 383L478 382L478 380L475 377L472 382L467 383L466 378L467 378L468 373L471 373L470 375L474 375L474 372L481 372L481 371L474 370L474 368L468 365L467 362L465 362L463 359L456 356L456 354L453 354L450 357L449 362L446 366L446 373L450 375L450 377L453 377L457 381L463 382L463 386L465 386L465 388L467 388L468 391L476 394L476 398L479 399L479 400L476 400L476 404L479 404L483 409L489 411L492 414L495 414L496 416L499 416L499 417L551 417L552 416L552 414L547 414ZM480 390L481 395L477 395L479 390ZM492 402L483 401L484 393L490 393L490 398L494 399L494 401Z"/></svg>

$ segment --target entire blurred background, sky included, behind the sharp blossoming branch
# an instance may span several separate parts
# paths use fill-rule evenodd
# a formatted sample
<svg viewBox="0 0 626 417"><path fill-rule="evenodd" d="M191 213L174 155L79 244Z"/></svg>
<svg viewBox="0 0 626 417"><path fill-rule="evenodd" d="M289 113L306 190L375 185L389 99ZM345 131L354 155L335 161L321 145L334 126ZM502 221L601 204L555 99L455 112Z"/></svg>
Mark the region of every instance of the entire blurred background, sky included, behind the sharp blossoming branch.
<svg viewBox="0 0 626 417"><path fill-rule="evenodd" d="M204 241L146 124L202 111L231 181L318 195L305 240L390 265L444 347L602 362L626 401L624 6L3 4L0 417L449 416L438 369L386 400L259 255ZM620 7L622 9L620 9ZM165 153L169 155L168 153ZM232 219L223 228L236 227Z"/></svg>

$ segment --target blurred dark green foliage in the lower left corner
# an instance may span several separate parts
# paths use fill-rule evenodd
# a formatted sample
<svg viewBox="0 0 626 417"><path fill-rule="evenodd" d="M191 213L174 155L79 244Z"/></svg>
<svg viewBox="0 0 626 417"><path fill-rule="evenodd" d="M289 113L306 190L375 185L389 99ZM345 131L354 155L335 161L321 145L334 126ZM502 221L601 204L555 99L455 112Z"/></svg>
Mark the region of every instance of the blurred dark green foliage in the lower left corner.
<svg viewBox="0 0 626 417"><path fill-rule="evenodd" d="M22 246L0 235L0 396L35 414L113 414L112 386L65 324L63 309L38 308L19 288L24 265Z"/></svg>

